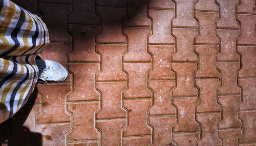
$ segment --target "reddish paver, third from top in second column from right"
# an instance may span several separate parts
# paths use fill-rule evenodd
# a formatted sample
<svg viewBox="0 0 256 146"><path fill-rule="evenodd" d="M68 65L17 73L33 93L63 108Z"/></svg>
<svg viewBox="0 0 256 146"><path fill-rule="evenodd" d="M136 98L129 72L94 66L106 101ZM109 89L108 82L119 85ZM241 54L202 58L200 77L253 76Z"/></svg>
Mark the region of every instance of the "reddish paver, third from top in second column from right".
<svg viewBox="0 0 256 146"><path fill-rule="evenodd" d="M217 63L217 69L221 72L221 86L218 87L218 95L240 94L237 85L237 71L240 63Z"/></svg>

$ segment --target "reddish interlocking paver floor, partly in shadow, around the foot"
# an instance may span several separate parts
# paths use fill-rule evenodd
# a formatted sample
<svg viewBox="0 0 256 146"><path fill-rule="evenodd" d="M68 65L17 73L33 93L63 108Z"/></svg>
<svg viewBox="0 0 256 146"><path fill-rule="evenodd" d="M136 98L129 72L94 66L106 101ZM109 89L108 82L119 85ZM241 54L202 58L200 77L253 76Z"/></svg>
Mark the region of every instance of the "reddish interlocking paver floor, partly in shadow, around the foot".
<svg viewBox="0 0 256 146"><path fill-rule="evenodd" d="M255 0L14 2L70 75L37 85L2 145L256 145Z"/></svg>

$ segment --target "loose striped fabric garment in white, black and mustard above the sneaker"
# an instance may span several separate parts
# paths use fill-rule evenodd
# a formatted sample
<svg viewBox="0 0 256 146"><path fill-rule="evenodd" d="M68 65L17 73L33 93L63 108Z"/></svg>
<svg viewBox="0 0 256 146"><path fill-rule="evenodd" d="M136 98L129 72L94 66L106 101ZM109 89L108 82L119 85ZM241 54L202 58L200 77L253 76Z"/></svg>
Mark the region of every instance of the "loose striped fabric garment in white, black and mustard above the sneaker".
<svg viewBox="0 0 256 146"><path fill-rule="evenodd" d="M0 0L0 123L27 102L38 78L35 57L49 44L45 23L9 0Z"/></svg>

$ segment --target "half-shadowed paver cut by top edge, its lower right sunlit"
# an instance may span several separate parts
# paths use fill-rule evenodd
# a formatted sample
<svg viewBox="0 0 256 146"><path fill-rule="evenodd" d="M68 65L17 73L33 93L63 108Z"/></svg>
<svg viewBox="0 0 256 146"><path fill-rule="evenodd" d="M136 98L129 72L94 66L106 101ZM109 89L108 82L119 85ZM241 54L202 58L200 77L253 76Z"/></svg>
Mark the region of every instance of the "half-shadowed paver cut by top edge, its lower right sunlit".
<svg viewBox="0 0 256 146"><path fill-rule="evenodd" d="M123 25L128 26L150 26L151 20L147 17L146 0L127 0L127 14L123 19Z"/></svg>

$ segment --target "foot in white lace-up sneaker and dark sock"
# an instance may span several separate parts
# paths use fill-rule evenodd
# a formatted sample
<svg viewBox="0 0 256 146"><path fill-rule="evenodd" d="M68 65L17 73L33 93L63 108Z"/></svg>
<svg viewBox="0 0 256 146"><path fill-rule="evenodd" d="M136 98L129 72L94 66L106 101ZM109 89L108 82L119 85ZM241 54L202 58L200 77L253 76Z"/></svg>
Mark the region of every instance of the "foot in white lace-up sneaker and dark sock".
<svg viewBox="0 0 256 146"><path fill-rule="evenodd" d="M46 82L61 82L68 77L68 71L62 65L50 60L35 60L39 69L39 78Z"/></svg>

